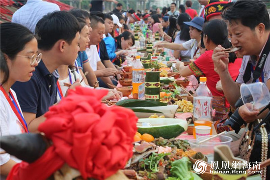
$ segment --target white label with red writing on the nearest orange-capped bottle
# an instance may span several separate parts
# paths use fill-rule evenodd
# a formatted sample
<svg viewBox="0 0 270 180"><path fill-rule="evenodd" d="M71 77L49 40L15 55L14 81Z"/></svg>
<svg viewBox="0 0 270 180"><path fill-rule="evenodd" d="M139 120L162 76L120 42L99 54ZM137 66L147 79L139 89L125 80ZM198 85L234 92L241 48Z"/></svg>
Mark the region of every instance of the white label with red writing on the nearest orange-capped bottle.
<svg viewBox="0 0 270 180"><path fill-rule="evenodd" d="M194 118L211 119L212 97L194 98Z"/></svg>

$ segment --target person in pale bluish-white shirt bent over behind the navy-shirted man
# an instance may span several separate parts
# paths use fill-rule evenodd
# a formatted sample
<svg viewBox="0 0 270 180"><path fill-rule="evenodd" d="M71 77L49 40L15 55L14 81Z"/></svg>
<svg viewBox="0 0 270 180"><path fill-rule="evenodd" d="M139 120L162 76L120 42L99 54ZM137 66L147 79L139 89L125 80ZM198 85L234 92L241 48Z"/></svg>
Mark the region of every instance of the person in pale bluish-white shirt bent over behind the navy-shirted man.
<svg viewBox="0 0 270 180"><path fill-rule="evenodd" d="M12 23L18 23L35 33L37 22L48 13L60 11L57 4L43 0L27 0L12 16Z"/></svg>

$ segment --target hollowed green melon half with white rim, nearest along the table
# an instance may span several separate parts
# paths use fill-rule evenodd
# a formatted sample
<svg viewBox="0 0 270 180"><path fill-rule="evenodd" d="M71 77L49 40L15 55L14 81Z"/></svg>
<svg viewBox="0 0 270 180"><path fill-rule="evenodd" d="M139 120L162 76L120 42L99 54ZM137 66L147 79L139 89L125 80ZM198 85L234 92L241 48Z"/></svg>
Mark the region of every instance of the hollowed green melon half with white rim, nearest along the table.
<svg viewBox="0 0 270 180"><path fill-rule="evenodd" d="M188 122L184 119L145 118L139 119L138 122L149 122L152 127L142 127L141 123L137 123L138 132L151 134L154 138L175 138L188 129Z"/></svg>

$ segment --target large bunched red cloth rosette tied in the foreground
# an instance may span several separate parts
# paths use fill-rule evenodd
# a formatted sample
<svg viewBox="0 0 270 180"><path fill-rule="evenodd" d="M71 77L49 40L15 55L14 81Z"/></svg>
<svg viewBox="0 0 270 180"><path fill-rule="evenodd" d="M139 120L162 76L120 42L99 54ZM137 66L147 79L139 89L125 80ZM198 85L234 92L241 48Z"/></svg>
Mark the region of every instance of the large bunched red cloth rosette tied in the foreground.
<svg viewBox="0 0 270 180"><path fill-rule="evenodd" d="M104 180L124 168L133 155L137 117L130 109L102 104L107 93L83 87L69 90L38 128L53 145L34 163L17 164L8 180L45 180L64 163L84 179Z"/></svg>

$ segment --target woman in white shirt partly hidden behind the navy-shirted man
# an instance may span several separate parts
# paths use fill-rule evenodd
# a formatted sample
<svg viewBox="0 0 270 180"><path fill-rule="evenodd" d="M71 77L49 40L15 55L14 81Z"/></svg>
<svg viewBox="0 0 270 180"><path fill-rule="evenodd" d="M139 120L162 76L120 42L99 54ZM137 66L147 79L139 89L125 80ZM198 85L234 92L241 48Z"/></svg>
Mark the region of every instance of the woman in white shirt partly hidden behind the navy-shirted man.
<svg viewBox="0 0 270 180"><path fill-rule="evenodd" d="M79 46L80 51L85 51L86 47L88 47L90 39L89 39L89 28L87 24L85 23L84 19L76 17L79 21L79 24L81 26L81 38L79 40ZM59 79L57 81L57 102L59 102L62 97L66 96L66 92L68 90L68 86L73 84L74 82L80 82L82 77L81 75L76 71L76 66L74 66L75 60L70 62L68 65L61 65L58 67L58 73L59 73ZM87 86L83 81L81 82L81 86L83 87L89 87ZM97 88L101 89L101 88ZM108 89L109 90L109 89ZM116 90L109 90L108 94L104 97L104 99L120 99L121 98L121 92L118 92Z"/></svg>

